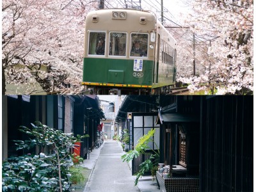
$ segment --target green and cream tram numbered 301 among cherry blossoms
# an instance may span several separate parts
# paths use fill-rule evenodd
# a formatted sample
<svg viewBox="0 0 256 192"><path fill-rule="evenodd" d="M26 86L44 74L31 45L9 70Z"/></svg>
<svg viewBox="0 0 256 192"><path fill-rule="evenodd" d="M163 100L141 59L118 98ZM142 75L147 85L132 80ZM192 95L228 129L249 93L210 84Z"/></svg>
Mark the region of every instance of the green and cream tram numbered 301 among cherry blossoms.
<svg viewBox="0 0 256 192"><path fill-rule="evenodd" d="M175 84L176 41L150 12L86 15L83 82L95 94L158 94Z"/></svg>

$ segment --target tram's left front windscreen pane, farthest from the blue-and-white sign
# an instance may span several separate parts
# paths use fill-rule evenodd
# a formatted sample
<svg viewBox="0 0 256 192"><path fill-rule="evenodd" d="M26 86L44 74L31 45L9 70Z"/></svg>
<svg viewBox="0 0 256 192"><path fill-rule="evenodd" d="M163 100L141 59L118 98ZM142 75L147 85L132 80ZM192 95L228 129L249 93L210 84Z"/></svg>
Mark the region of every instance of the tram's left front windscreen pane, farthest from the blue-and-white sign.
<svg viewBox="0 0 256 192"><path fill-rule="evenodd" d="M89 35L89 51L88 54L105 54L106 33L90 32Z"/></svg>

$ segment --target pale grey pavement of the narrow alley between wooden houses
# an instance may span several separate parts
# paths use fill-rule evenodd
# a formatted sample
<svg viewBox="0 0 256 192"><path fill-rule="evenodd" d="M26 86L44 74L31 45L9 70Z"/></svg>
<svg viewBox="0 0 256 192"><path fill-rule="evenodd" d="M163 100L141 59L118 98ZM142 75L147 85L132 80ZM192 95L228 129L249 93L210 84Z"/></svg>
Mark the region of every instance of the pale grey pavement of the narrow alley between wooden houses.
<svg viewBox="0 0 256 192"><path fill-rule="evenodd" d="M140 191L134 186L134 177L117 141L105 141L92 175L84 191Z"/></svg>

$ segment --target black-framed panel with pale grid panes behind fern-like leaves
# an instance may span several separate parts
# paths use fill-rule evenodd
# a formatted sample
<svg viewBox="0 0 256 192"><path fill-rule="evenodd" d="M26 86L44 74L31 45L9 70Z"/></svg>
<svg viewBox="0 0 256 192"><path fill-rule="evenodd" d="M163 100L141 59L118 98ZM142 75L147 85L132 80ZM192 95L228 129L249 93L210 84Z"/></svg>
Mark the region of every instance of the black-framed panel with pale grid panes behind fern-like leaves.
<svg viewBox="0 0 256 192"><path fill-rule="evenodd" d="M148 143L148 146L152 148L152 150L156 150L157 147L159 148L160 125L156 125L156 118L157 113L132 113L132 149L136 147L141 136L147 134L152 128L156 129L153 136L153 140L156 142L156 145L151 141ZM152 150L147 150L147 152L152 154ZM132 159L132 175L140 170L140 164L149 159L150 154L141 154L136 159ZM147 175L150 174L150 172L147 173Z"/></svg>

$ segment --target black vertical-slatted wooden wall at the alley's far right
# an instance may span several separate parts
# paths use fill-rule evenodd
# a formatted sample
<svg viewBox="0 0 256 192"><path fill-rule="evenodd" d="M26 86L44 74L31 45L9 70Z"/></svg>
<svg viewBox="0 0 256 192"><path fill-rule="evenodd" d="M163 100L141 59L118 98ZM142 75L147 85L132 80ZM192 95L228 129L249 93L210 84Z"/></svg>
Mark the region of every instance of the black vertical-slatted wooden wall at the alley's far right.
<svg viewBox="0 0 256 192"><path fill-rule="evenodd" d="M253 97L201 103L200 191L253 191Z"/></svg>

